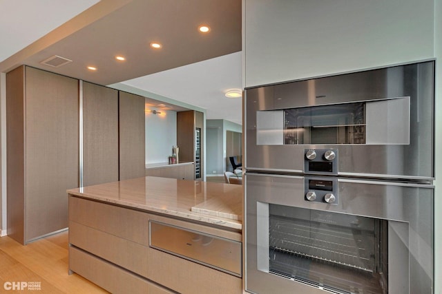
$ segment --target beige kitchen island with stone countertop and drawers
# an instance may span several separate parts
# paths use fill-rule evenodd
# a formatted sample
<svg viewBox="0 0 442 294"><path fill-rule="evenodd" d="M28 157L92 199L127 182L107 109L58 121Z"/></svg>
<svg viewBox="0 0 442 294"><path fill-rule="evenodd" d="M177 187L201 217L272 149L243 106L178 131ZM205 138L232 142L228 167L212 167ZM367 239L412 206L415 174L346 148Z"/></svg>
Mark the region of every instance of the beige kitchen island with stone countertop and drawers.
<svg viewBox="0 0 442 294"><path fill-rule="evenodd" d="M242 187L147 176L68 190L69 270L112 293L242 293Z"/></svg>

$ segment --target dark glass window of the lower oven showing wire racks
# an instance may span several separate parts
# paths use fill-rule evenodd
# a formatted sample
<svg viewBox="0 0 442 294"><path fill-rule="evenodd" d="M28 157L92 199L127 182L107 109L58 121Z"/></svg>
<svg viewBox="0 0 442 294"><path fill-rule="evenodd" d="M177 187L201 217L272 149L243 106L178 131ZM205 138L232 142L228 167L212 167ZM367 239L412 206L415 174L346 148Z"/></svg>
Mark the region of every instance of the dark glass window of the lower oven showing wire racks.
<svg viewBox="0 0 442 294"><path fill-rule="evenodd" d="M270 211L271 273L337 293L387 293L386 221L275 204Z"/></svg>

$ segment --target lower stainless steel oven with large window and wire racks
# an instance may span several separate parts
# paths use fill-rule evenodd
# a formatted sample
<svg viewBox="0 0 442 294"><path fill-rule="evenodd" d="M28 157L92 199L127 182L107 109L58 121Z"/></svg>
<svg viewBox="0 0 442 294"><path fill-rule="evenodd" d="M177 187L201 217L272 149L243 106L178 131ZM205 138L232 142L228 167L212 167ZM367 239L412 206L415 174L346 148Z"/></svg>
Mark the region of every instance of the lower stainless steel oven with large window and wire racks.
<svg viewBox="0 0 442 294"><path fill-rule="evenodd" d="M432 185L249 172L244 185L246 291L432 293Z"/></svg>

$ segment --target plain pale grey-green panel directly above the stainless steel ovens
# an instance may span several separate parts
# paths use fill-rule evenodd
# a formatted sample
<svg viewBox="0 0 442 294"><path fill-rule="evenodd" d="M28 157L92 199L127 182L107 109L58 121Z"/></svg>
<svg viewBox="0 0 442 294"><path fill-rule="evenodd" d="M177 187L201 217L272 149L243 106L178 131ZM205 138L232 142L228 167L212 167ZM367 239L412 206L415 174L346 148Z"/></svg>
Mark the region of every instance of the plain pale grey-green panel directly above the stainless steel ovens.
<svg viewBox="0 0 442 294"><path fill-rule="evenodd" d="M434 57L434 0L244 0L245 87Z"/></svg>

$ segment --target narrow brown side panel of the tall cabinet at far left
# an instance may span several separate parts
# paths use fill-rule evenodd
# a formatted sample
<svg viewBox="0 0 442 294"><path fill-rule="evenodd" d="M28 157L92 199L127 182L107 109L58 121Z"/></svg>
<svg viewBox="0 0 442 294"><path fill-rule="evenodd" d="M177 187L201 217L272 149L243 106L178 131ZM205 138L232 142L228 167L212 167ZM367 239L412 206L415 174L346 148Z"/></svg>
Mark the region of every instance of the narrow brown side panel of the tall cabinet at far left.
<svg viewBox="0 0 442 294"><path fill-rule="evenodd" d="M8 235L24 242L24 67L6 74Z"/></svg>

